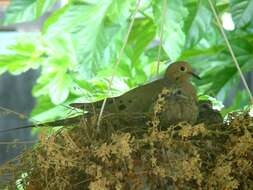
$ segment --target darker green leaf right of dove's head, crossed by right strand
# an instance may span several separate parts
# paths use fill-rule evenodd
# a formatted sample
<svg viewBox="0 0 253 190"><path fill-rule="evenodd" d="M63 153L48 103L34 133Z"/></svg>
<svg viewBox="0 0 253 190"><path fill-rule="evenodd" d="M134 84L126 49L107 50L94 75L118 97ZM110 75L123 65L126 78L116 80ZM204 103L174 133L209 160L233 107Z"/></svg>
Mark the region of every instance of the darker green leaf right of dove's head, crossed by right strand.
<svg viewBox="0 0 253 190"><path fill-rule="evenodd" d="M250 39L248 37L231 40L233 50L243 72L252 70L253 46ZM230 90L232 88L236 89L240 81L230 53L222 44L217 44L216 48L202 49L198 53L195 50L194 54L188 54L185 59L201 71L202 80L196 81L199 92L211 96L219 95L220 100L224 101L231 96Z"/></svg>

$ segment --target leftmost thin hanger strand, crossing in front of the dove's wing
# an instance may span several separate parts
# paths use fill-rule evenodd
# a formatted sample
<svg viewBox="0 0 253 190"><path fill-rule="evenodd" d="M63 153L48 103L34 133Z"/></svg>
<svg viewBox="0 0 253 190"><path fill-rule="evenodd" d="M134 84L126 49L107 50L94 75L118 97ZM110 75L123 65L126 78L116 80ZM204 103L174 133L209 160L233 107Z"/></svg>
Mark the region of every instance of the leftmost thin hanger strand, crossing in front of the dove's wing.
<svg viewBox="0 0 253 190"><path fill-rule="evenodd" d="M121 58L122 58L122 56L123 56L123 53L124 53L124 51L125 51L126 44L127 44L127 42L128 42L128 38L129 38L130 32L131 32L131 30L132 30L133 24L134 24L135 16L136 16L136 14L137 14L137 12L138 12L138 9L139 9L139 6L140 6L140 2L141 2L141 0L137 0L136 9L135 9L135 11L134 11L134 13L133 13L133 15L132 15L132 19L131 19L131 22L130 22L130 25L129 25L127 34L126 34L126 36L125 36L123 46L122 46L122 48L121 48L121 50L120 50L120 53L119 53L119 56L118 56L118 58L117 58L117 60L116 60L116 64L114 65L114 69L113 69L113 71L112 71L112 76L111 76L111 79L110 79L110 81L109 81L108 94L109 94L109 93L111 92L111 90L112 90L112 82L113 82L114 77L115 77L115 72L116 72L116 69L117 69L117 67L118 67L118 65L119 65L119 63L120 63L120 61L121 61ZM98 121L97 121L97 127L98 127L98 128L99 128L100 121L101 121L101 118L102 118L102 115L103 115L103 112L104 112L104 109L105 109L106 100L107 100L107 98L104 99L103 104L102 104L102 106L101 106L101 110L100 110L99 116L98 116Z"/></svg>

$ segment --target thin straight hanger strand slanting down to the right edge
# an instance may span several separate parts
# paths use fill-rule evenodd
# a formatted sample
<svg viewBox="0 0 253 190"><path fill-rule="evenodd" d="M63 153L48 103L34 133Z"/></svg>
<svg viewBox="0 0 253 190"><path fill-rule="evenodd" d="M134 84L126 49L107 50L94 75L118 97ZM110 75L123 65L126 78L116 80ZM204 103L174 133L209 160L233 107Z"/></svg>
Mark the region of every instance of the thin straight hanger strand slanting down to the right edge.
<svg viewBox="0 0 253 190"><path fill-rule="evenodd" d="M212 3L212 0L208 0L208 2L209 2L209 5L210 5L210 7L211 7L211 9L212 9L212 11L213 11L213 14L214 14L214 16L215 16L215 19L216 19L217 24L218 24L218 26L219 26L219 29L220 29L220 31L221 31L221 34L222 34L222 36L223 36L223 38L224 38L224 40L225 40L225 42L226 42L227 48L228 48L228 50L229 50L229 53L231 54L231 57L232 57L232 59L233 59L233 62L234 62L235 66L236 66L236 68L237 68L237 70L238 70L238 72L239 72L239 74L240 74L240 77L241 77L241 79L242 79L243 85L244 85L244 87L246 88L246 90L247 90L247 92L248 92L248 94L249 94L249 97L250 97L250 104L253 104L253 96L252 96L252 94L251 94L251 92L250 92L250 89L249 89L249 86L248 86L248 84L247 84L247 81L246 81L246 79L245 79L245 77L244 77L244 75L243 75L243 73L242 73L242 71L241 71L240 65L239 65L239 63L238 63L238 61L237 61L237 59L236 59L236 57L235 57L234 51L233 51L233 49L232 49L232 46L231 46L231 44L230 44L230 42L229 42L229 40L228 40L228 38L227 38L227 35L226 35L226 33L225 33L224 29L223 29L223 26L222 26L221 21L220 21L220 19L219 19L219 17L218 17L218 14L217 14L217 12L216 12L216 10L215 10L215 7L214 7L214 5L213 5L213 3Z"/></svg>

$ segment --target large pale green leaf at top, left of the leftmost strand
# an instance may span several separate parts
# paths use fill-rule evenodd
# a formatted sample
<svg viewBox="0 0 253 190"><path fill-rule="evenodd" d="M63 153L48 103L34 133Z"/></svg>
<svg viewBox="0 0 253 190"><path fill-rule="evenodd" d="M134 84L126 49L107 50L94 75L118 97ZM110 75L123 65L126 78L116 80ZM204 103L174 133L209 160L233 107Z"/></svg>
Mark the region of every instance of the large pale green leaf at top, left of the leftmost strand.
<svg viewBox="0 0 253 190"><path fill-rule="evenodd" d="M47 20L44 32L51 36L62 31L71 33L79 71L84 78L90 78L102 65L115 61L127 29L131 2L108 0L69 4Z"/></svg>

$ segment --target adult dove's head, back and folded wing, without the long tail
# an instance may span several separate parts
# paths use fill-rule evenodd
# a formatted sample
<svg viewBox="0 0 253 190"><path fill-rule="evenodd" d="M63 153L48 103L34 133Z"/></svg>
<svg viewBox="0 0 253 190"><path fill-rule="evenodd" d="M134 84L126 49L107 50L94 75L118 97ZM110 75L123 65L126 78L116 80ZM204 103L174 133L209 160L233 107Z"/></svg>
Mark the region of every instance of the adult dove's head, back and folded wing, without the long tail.
<svg viewBox="0 0 253 190"><path fill-rule="evenodd" d="M105 112L148 112L163 88L181 88L186 97L197 102L196 90L189 82L189 77L199 78L192 72L187 62L178 61L168 66L165 75L158 80L134 88L118 97L108 98ZM104 100L92 103L73 103L70 106L88 112L101 109Z"/></svg>

